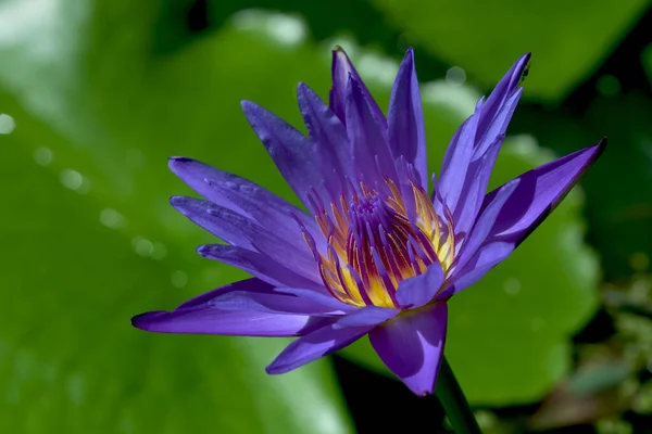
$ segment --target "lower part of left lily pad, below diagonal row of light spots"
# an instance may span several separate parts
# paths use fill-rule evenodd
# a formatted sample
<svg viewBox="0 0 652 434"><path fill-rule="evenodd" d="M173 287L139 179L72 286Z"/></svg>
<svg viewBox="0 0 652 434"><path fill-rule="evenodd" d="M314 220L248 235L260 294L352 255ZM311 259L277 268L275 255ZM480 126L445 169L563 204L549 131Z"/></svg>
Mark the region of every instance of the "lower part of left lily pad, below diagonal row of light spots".
<svg viewBox="0 0 652 434"><path fill-rule="evenodd" d="M203 285L201 267L143 257L90 193L71 190L73 177L37 165L18 138L2 142L13 184L2 221L2 432L347 431L327 366L264 373L280 342L134 330L134 312L180 301L179 275Z"/></svg>

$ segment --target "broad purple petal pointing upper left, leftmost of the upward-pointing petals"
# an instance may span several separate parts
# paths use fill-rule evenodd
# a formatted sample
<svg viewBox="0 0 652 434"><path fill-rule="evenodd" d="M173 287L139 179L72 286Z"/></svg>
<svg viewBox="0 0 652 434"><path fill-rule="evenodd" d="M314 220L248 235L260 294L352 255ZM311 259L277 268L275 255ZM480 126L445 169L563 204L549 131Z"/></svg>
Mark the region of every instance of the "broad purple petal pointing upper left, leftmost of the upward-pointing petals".
<svg viewBox="0 0 652 434"><path fill-rule="evenodd" d="M310 207L308 192L311 187L321 191L323 180L308 139L290 124L251 101L242 101L242 111L280 175Z"/></svg>

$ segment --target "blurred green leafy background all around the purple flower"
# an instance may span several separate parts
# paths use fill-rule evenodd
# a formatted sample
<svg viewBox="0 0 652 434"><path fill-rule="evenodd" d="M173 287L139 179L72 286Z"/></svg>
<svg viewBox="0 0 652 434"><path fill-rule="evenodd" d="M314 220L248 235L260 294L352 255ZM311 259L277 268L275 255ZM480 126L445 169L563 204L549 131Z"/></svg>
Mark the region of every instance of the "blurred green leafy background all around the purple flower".
<svg viewBox="0 0 652 434"><path fill-rule="evenodd" d="M195 254L212 240L168 206L191 192L166 158L296 202L239 101L303 130L296 86L326 98L335 43L381 106L415 48L432 170L526 51L492 186L609 137L581 188L451 302L447 355L486 433L652 432L649 28L644 0L0 0L0 432L411 430L427 407L384 392L366 342L337 371L267 376L287 340L129 324L244 276Z"/></svg>

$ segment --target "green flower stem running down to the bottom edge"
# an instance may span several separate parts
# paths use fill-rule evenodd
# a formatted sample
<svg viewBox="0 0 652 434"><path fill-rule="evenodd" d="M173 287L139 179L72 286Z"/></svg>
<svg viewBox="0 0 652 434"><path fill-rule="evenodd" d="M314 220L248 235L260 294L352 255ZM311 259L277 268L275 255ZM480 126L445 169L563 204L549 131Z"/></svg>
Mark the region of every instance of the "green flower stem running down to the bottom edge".
<svg viewBox="0 0 652 434"><path fill-rule="evenodd" d="M439 369L435 393L455 434L482 434L446 357Z"/></svg>

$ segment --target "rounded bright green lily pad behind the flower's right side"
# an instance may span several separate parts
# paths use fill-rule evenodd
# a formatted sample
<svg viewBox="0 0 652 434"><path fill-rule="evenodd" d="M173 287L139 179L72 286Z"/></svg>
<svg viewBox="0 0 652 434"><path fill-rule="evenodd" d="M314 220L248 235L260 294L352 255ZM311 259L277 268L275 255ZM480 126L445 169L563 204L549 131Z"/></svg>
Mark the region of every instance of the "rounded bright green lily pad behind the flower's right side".
<svg viewBox="0 0 652 434"><path fill-rule="evenodd" d="M455 124L473 112L477 95L446 84L427 84L423 93L429 167L437 169ZM550 159L532 138L511 138L490 189ZM449 302L447 357L474 405L531 403L567 374L570 336L597 307L600 275L584 243L581 205L579 192L569 194L507 260ZM343 355L389 372L367 340Z"/></svg>

